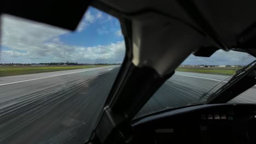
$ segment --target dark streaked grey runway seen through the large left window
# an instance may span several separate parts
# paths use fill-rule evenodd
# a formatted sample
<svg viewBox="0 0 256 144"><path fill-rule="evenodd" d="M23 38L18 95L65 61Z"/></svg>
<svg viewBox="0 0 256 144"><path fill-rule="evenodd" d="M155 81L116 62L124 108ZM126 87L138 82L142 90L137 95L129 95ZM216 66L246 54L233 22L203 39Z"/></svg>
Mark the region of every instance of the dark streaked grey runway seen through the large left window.
<svg viewBox="0 0 256 144"><path fill-rule="evenodd" d="M1 77L0 143L83 143L117 73L103 67Z"/></svg>

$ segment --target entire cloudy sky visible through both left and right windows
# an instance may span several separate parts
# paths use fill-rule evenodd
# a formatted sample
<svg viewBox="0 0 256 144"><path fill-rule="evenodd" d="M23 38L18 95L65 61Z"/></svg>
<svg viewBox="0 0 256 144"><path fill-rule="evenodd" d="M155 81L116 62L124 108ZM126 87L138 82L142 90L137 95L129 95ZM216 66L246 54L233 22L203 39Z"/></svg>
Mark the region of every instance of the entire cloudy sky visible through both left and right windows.
<svg viewBox="0 0 256 144"><path fill-rule="evenodd" d="M119 21L90 7L76 31L17 17L1 17L0 63L121 63L125 53ZM255 58L242 52L214 53L210 58L190 55L182 64L245 65Z"/></svg>

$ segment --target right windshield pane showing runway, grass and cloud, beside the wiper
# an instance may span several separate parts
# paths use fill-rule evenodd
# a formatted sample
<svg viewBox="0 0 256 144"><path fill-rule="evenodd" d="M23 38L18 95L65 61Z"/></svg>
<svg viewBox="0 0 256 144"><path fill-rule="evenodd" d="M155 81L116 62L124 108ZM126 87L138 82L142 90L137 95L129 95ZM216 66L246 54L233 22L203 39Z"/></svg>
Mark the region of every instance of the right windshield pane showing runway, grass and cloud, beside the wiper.
<svg viewBox="0 0 256 144"><path fill-rule="evenodd" d="M166 109L204 104L207 98L225 85L237 70L254 60L255 57L248 53L237 51L219 50L211 57L195 57L191 54L135 118ZM255 95L255 88L251 88L250 92L251 95Z"/></svg>

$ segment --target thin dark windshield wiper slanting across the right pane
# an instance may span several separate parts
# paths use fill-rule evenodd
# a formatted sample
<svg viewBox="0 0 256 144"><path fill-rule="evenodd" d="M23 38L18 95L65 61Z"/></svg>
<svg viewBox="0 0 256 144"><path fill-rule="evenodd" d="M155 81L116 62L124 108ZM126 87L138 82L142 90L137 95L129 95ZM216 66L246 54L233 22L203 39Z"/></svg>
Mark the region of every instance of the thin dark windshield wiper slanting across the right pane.
<svg viewBox="0 0 256 144"><path fill-rule="evenodd" d="M236 80L237 77L239 77L243 72L247 71L247 69L248 69L252 64L254 64L255 62L256 62L256 60L253 61L253 62L251 62L251 63L249 63L248 65L246 65L246 66L243 67L242 69L236 70L236 74L231 75L231 76L229 76L228 78L226 78L226 79L224 79L224 80L218 82L218 83L217 83L216 85L214 85L211 89L209 89L206 93L204 93L204 94L199 98L198 101L201 101L203 98L206 97L206 95L207 95L209 92L212 91L213 88L215 88L216 86L218 86L220 83L223 83L223 82L225 82L226 80L230 79L230 77L231 77L231 79L230 79L228 82L226 82L224 86L220 87L216 92L212 93L209 98L211 98L213 95L216 95L217 93L219 93L222 89L224 89L226 86L229 86L230 83L232 83L234 80ZM209 98L208 98L208 99L209 99Z"/></svg>

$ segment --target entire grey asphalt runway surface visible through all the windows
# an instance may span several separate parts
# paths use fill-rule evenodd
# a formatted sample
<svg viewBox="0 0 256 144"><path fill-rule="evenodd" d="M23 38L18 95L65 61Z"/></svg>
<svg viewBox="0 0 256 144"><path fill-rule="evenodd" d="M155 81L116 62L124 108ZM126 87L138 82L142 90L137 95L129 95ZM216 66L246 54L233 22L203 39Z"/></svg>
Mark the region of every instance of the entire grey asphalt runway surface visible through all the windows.
<svg viewBox="0 0 256 144"><path fill-rule="evenodd" d="M0 143L85 142L118 70L112 66L0 77ZM176 72L137 116L193 103L227 77ZM255 89L231 103L256 103Z"/></svg>

